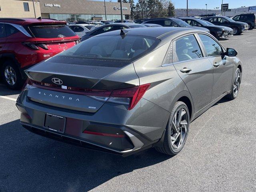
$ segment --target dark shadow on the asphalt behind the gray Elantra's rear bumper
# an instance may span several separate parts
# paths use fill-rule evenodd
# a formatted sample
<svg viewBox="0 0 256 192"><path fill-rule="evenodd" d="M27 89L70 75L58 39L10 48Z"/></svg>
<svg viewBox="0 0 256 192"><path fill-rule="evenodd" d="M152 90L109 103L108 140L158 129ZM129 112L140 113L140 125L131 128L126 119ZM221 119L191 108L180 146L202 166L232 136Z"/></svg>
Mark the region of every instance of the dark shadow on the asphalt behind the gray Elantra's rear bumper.
<svg viewBox="0 0 256 192"><path fill-rule="evenodd" d="M0 135L0 186L7 191L85 192L171 158L152 148L126 158L86 150L33 134L19 120L0 125Z"/></svg>

